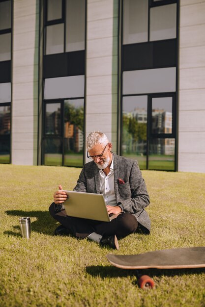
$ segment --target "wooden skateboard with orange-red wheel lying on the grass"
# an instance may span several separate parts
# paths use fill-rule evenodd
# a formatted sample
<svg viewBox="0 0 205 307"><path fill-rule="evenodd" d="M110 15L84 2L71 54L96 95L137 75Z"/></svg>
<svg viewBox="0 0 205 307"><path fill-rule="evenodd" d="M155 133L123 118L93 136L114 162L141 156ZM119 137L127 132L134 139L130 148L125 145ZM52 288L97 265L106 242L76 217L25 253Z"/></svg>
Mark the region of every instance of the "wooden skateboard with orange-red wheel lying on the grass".
<svg viewBox="0 0 205 307"><path fill-rule="evenodd" d="M185 247L147 252L139 255L107 255L110 263L120 269L136 270L138 285L153 288L154 281L141 275L141 269L190 269L205 267L205 247Z"/></svg>

